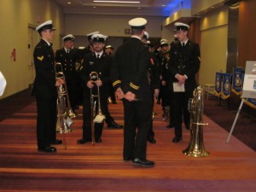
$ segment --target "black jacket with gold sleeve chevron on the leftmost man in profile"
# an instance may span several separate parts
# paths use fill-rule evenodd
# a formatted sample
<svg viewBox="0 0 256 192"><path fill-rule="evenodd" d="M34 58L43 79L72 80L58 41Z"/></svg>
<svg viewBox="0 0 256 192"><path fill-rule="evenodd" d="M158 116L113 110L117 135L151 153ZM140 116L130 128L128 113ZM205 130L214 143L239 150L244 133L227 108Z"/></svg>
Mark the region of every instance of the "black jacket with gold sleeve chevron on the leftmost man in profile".
<svg viewBox="0 0 256 192"><path fill-rule="evenodd" d="M55 87L55 55L51 46L43 39L34 49L36 78L34 93L36 96L57 96Z"/></svg>

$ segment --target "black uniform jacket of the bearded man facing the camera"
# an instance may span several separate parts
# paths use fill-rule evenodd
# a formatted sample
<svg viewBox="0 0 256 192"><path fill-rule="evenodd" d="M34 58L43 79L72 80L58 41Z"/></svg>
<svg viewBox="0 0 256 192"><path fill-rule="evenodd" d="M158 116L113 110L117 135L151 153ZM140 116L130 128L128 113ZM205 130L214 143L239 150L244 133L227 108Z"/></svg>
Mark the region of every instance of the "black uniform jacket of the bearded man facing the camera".
<svg viewBox="0 0 256 192"><path fill-rule="evenodd" d="M110 79L110 68L113 64L111 56L103 53L101 58L97 59L95 53L89 53L84 55L83 68L80 72L82 84L84 87L85 96L90 96L90 88L87 87L87 82L90 81L90 73L98 73L98 79L102 80L102 86L100 86L100 95L109 96L109 84ZM93 94L97 93L96 86L92 88Z"/></svg>

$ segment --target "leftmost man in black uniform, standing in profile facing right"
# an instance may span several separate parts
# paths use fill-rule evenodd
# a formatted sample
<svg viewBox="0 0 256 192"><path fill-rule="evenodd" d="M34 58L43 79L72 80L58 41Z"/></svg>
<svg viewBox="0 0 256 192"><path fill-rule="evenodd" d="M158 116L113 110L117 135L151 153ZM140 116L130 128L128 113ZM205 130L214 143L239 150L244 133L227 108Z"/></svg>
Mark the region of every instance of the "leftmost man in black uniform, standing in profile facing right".
<svg viewBox="0 0 256 192"><path fill-rule="evenodd" d="M36 69L33 91L38 109L38 151L55 152L56 148L50 144L62 143L61 140L56 140L56 87L64 82L62 79L55 79L55 55L50 43L55 30L52 21L44 22L36 30L41 36L33 53Z"/></svg>

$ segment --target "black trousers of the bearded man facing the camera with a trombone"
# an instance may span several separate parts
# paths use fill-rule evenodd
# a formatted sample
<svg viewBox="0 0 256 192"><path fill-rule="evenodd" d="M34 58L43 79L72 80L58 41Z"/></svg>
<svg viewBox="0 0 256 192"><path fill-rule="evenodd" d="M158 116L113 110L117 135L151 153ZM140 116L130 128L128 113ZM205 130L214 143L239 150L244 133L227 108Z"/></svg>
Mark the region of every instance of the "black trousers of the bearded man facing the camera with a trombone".
<svg viewBox="0 0 256 192"><path fill-rule="evenodd" d="M94 98L96 101L96 113L98 111L97 97ZM91 139L91 106L90 98L84 97L83 102L83 139ZM108 111L108 96L101 97L101 108L102 113L106 114ZM104 121L102 123L94 123L95 139L98 140L102 137Z"/></svg>

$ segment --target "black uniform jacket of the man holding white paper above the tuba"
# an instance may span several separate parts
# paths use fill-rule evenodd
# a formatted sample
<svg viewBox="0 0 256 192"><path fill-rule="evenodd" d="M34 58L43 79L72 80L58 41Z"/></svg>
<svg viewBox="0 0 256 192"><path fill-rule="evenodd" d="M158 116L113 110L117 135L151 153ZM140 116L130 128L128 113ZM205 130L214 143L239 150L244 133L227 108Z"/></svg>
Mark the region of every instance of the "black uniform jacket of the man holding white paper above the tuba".
<svg viewBox="0 0 256 192"><path fill-rule="evenodd" d="M177 73L186 75L188 79L185 81L185 91L193 91L196 87L195 73L199 70L200 62L199 44L192 41L188 41L184 47L180 43L173 44L167 69L172 82L177 82Z"/></svg>

